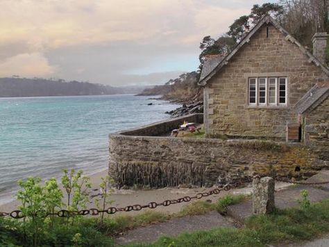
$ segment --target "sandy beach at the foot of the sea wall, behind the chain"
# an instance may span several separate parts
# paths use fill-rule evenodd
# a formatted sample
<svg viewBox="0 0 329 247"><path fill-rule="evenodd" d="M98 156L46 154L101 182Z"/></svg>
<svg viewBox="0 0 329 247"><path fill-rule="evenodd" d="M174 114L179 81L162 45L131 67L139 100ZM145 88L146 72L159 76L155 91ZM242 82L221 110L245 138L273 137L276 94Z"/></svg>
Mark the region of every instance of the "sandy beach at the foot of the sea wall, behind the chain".
<svg viewBox="0 0 329 247"><path fill-rule="evenodd" d="M90 202L88 203L87 207L94 207L94 200L96 198L100 198L100 196L96 196L99 194L99 183L101 182L101 177L105 177L107 175L107 170L103 170L99 173L94 173L90 175L90 180L92 182L92 191ZM287 183L277 183L276 190L284 189L289 184ZM108 205L108 207L126 207L128 205L145 205L149 202L162 202L164 200L173 200L177 198L181 198L184 196L195 196L196 193L210 191L212 188L196 188L196 189L189 189L189 188L163 188L163 189L125 189L125 190L115 190L112 195L110 196L110 200L114 202L112 205ZM211 200L212 202L217 201L219 198L227 195L228 193L231 194L251 194L252 188L251 184L248 184L244 188L239 189L231 189L230 191L221 191L218 195L208 196L206 198L202 198L201 200ZM182 207L188 205L191 202L182 202L176 205L170 205L169 207L157 207L153 209L158 212L164 212L167 214L174 214L179 212ZM12 202L8 202L4 205L0 205L1 212L11 212L12 210L17 209L19 206L19 202L17 200L13 200ZM139 214L139 212L118 212L115 216L122 215L122 214Z"/></svg>

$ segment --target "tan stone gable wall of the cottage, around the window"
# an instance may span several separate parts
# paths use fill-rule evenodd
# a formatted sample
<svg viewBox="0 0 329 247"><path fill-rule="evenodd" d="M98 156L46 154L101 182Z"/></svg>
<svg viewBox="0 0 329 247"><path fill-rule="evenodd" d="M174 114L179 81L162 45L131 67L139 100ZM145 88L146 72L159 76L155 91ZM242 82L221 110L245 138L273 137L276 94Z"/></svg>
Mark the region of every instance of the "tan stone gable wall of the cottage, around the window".
<svg viewBox="0 0 329 247"><path fill-rule="evenodd" d="M297 45L269 24L230 59L205 86L205 131L210 137L285 138L286 124L297 121L292 110L314 83L328 79ZM287 106L248 106L248 78L287 77Z"/></svg>

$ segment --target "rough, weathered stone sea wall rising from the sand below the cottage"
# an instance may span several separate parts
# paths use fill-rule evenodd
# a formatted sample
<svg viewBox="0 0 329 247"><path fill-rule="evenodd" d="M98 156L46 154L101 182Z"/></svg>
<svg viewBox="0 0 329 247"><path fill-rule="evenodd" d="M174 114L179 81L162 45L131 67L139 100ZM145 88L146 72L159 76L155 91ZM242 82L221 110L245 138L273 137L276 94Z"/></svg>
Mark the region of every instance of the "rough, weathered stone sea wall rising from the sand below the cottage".
<svg viewBox="0 0 329 247"><path fill-rule="evenodd" d="M212 186L243 182L254 174L307 177L326 167L302 145L110 135L109 173L118 187Z"/></svg>

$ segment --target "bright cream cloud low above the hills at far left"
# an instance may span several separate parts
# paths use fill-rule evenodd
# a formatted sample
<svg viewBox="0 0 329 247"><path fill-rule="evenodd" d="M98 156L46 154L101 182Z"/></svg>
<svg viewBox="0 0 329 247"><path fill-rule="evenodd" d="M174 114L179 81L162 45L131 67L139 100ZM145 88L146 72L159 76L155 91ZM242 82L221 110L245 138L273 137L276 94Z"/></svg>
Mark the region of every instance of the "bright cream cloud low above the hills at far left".
<svg viewBox="0 0 329 247"><path fill-rule="evenodd" d="M47 77L56 72L47 58L40 53L19 54L0 63L0 76L10 77L19 74L22 77Z"/></svg>

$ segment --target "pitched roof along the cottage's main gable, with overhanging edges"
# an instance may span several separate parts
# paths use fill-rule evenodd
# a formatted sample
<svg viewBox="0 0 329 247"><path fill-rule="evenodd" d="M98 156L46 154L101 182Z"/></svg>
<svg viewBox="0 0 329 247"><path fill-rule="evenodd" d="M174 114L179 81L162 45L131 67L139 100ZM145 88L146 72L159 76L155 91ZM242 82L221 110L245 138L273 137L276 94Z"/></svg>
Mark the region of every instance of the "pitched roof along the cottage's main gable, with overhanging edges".
<svg viewBox="0 0 329 247"><path fill-rule="evenodd" d="M312 54L310 54L310 51L307 51L307 49L305 49L305 47L303 47L303 45L301 45L295 38L292 37L292 35L290 35L287 31L285 31L285 29L282 28L282 26L280 26L278 24L278 22L276 22L271 16L267 15L265 17L263 17L262 19L260 19L260 22L258 22L258 24L256 24L253 29L251 29L251 31L249 33L247 33L244 38L242 38L242 40L235 45L235 47L232 49L232 51L230 51L230 53L228 53L226 56L223 57L223 59L221 59L220 61L217 61L216 63L210 63L210 65L203 65L203 70L205 70L205 72L201 71L201 75L203 75L203 77L200 77L199 80L199 85L200 86L205 86L208 82L208 80L210 78L212 78L214 76L214 74L217 74L217 72L219 72L219 70L221 70L221 68L225 65L228 64L228 62L230 61L230 58L232 58L237 51L239 51L239 49L241 47L243 47L246 43L248 43L250 41L250 38L262 27L263 24L269 24L271 23L273 26L276 27L276 29L278 29L278 31L280 31L283 35L285 35L285 40L289 40L290 42L292 42L294 45L297 45L298 48L300 49L300 51L305 54L306 56L308 56L309 58L309 62L310 63L314 63L317 66L320 66L321 69L323 70L323 72L325 72L326 74L329 75L329 68L326 65L323 65L318 58L316 58L315 56L313 56Z"/></svg>

